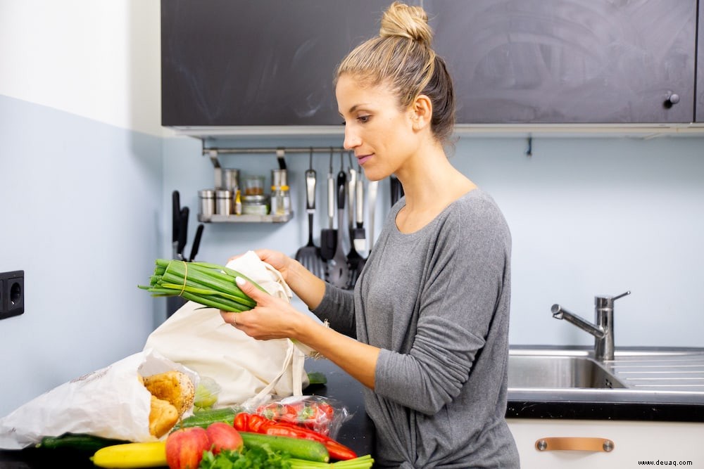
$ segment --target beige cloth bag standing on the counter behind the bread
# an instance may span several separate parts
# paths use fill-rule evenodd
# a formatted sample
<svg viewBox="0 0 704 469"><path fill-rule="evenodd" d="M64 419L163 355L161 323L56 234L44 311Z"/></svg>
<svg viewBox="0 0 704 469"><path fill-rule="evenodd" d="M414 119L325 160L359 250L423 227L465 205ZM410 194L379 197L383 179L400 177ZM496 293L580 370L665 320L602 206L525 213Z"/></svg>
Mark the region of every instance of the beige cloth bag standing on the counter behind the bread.
<svg viewBox="0 0 704 469"><path fill-rule="evenodd" d="M246 252L227 267L256 281L271 295L291 301L293 293L279 271ZM149 335L145 349L155 349L177 363L213 378L222 388L215 408L257 406L276 396L303 394L304 369L314 352L289 339L256 340L225 323L220 310L187 302Z"/></svg>

